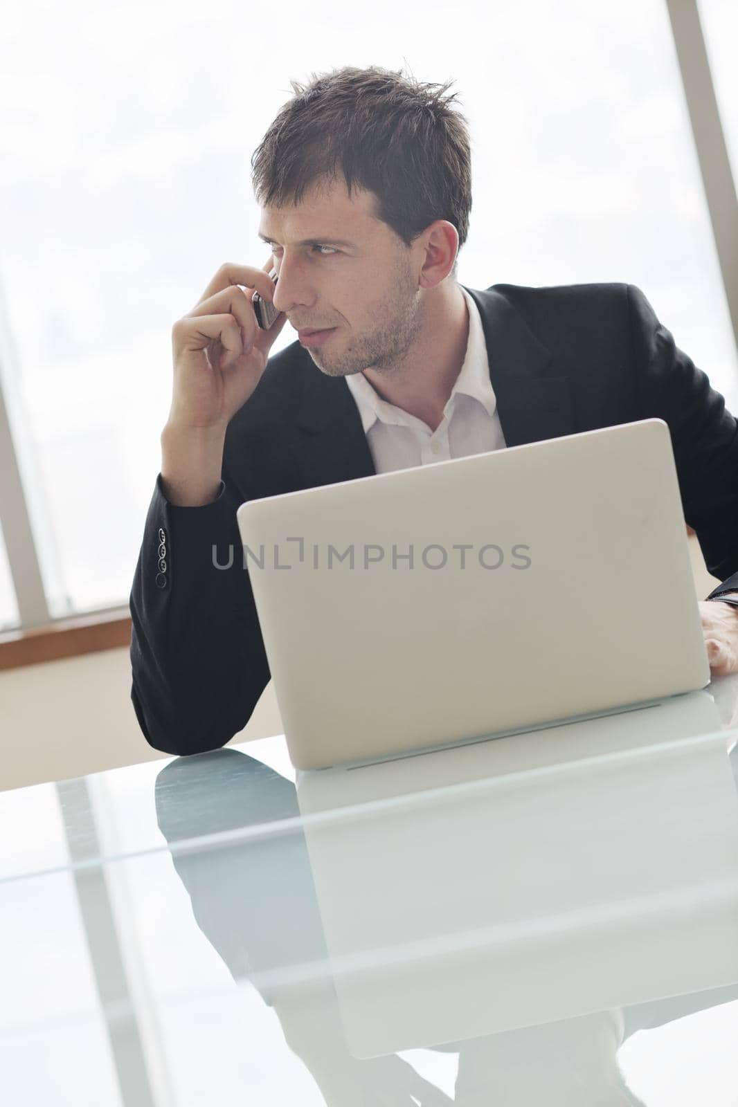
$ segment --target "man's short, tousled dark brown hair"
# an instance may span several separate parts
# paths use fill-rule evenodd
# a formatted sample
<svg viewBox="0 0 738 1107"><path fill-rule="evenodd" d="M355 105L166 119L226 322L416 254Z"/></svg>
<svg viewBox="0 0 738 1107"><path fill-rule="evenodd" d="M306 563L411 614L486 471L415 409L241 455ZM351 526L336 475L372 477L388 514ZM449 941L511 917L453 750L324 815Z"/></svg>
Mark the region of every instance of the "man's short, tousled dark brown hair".
<svg viewBox="0 0 738 1107"><path fill-rule="evenodd" d="M299 204L314 183L342 174L377 197L376 215L406 246L435 219L469 231L471 154L467 120L451 108L451 81L430 84L370 66L345 66L290 82L252 158L263 206ZM455 268L455 267L454 267Z"/></svg>

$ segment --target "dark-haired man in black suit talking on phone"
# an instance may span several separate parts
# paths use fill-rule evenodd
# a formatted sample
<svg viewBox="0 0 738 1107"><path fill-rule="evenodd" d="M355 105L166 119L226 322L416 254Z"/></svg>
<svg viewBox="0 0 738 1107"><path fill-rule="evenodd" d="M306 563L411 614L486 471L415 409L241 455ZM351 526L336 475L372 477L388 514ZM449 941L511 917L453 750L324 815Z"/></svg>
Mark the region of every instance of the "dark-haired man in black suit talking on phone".
<svg viewBox="0 0 738 1107"><path fill-rule="evenodd" d="M448 85L349 68L294 91L253 161L270 258L223 266L173 328L131 594L147 741L221 746L269 680L248 575L224 568L244 500L653 416L722 581L700 604L713 672L738 671L738 424L706 375L631 286L457 282L471 174ZM298 342L268 360L287 319Z"/></svg>

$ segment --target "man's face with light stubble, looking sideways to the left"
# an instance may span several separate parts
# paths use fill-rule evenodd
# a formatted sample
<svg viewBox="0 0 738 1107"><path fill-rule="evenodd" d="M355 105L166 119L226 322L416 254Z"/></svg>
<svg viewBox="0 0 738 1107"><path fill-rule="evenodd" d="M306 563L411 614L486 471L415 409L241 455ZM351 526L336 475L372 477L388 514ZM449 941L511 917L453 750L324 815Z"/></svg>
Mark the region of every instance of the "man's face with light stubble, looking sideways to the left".
<svg viewBox="0 0 738 1107"><path fill-rule="evenodd" d="M342 178L319 184L290 207L267 207L259 236L271 247L279 282L275 307L297 331L334 328L318 344L300 341L318 369L348 376L391 371L420 330L417 256L373 215L372 193Z"/></svg>

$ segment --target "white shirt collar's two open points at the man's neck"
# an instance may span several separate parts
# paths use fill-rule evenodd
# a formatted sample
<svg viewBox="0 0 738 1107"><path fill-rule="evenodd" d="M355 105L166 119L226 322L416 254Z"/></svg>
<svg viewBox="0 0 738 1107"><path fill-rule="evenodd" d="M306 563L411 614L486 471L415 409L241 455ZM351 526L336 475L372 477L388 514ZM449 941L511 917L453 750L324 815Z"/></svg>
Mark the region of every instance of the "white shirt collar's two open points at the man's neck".
<svg viewBox="0 0 738 1107"><path fill-rule="evenodd" d="M490 364L486 342L484 341L484 331L482 330L482 320L479 308L467 289L461 284L459 287L469 310L469 339L467 341L464 360L459 371L459 376L451 390L445 412L450 413L452 411L457 393L462 393L463 395L471 396L472 400L476 400L484 407L488 415L492 416L498 404L492 382L490 381ZM378 420L380 423L390 423L397 426L410 426L419 422L414 415L409 415L401 407L397 407L394 404L382 400L363 373L351 373L346 377L346 383L359 408L365 434L371 430Z"/></svg>

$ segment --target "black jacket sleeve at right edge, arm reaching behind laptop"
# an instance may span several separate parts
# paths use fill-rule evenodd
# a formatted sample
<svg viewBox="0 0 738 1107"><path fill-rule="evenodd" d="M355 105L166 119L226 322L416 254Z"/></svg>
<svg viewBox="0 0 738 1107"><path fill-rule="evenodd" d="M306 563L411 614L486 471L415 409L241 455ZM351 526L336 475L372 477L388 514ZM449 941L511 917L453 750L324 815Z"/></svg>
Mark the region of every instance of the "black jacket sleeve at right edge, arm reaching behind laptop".
<svg viewBox="0 0 738 1107"><path fill-rule="evenodd" d="M643 292L628 286L631 337L642 418L672 432L686 521L697 534L708 572L738 589L738 421L705 373L674 343Z"/></svg>

